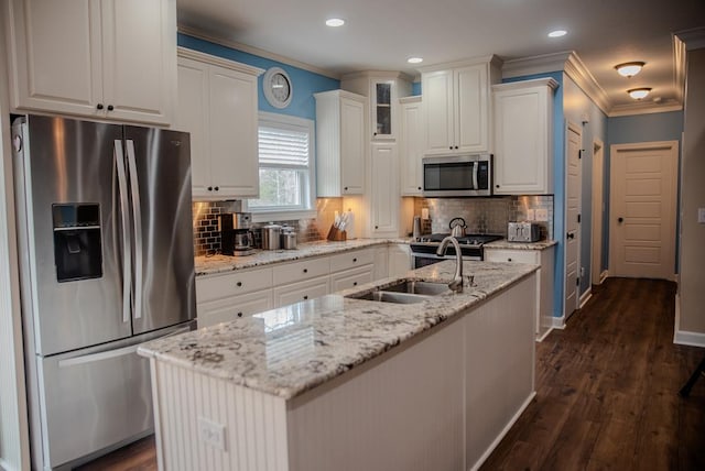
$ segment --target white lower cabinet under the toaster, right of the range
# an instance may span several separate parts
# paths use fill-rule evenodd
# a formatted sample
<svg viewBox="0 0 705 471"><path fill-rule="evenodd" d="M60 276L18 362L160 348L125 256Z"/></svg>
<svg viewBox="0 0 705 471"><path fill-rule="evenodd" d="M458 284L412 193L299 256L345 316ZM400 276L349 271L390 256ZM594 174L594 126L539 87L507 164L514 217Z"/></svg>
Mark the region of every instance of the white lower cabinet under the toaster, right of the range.
<svg viewBox="0 0 705 471"><path fill-rule="evenodd" d="M512 250L485 248L486 262L529 263L541 265L539 285L536 286L536 339L542 340L553 327L553 273L554 249L544 250Z"/></svg>

